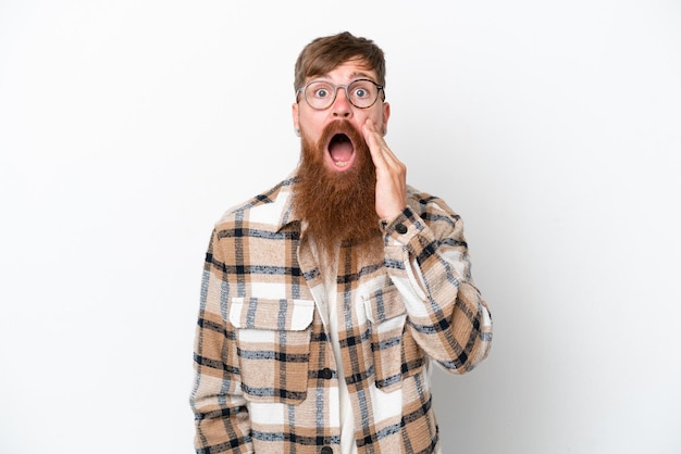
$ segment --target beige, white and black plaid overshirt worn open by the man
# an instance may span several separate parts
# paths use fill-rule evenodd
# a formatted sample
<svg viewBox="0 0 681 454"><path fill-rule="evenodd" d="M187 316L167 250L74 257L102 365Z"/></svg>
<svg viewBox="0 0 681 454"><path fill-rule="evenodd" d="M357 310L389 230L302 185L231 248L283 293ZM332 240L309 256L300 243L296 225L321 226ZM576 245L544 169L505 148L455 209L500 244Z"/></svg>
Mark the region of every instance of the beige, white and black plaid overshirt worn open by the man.
<svg viewBox="0 0 681 454"><path fill-rule="evenodd" d="M488 353L492 320L470 276L461 219L408 188L383 223L385 256L340 249L337 333L324 278L292 209L295 178L215 225L201 286L191 407L197 453L338 453L338 380L359 453L436 453L431 362L454 374Z"/></svg>

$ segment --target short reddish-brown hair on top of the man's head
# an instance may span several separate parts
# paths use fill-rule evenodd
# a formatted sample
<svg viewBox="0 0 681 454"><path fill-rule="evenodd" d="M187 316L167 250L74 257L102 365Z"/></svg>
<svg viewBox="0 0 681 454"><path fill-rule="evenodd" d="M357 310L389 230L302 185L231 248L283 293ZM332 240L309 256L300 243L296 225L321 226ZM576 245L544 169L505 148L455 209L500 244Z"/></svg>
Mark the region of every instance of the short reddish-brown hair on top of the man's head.
<svg viewBox="0 0 681 454"><path fill-rule="evenodd" d="M367 70L376 73L376 83L385 86L385 55L372 40L356 37L349 31L315 38L296 60L294 90L302 87L308 77L321 76L339 64L358 60Z"/></svg>

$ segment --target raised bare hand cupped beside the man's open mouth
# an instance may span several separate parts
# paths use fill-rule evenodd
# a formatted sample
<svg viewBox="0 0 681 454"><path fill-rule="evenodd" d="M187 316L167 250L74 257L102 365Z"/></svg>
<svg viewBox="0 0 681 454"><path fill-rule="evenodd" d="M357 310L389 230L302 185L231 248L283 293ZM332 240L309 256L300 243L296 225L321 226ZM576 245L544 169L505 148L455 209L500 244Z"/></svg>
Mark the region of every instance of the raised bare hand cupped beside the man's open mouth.
<svg viewBox="0 0 681 454"><path fill-rule="evenodd" d="M407 166L391 151L372 119L367 118L362 134L376 166L376 214L388 220L407 206Z"/></svg>

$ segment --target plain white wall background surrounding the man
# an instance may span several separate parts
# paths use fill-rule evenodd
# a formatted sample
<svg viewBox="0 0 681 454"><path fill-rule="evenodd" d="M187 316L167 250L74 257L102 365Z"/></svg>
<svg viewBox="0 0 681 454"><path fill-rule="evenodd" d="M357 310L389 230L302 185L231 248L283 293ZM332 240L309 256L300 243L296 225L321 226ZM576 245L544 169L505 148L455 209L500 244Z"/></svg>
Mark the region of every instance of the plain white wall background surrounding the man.
<svg viewBox="0 0 681 454"><path fill-rule="evenodd" d="M0 452L191 452L210 230L294 168L294 61L345 29L493 312L487 361L435 375L444 452L681 452L663 0L0 0Z"/></svg>

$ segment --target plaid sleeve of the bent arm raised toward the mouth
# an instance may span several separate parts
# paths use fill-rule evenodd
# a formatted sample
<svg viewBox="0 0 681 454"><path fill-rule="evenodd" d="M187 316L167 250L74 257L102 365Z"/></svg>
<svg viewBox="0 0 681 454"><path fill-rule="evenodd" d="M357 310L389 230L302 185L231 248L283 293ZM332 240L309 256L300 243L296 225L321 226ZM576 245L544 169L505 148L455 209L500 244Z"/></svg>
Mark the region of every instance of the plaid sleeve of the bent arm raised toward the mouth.
<svg viewBox="0 0 681 454"><path fill-rule="evenodd" d="M383 225L386 267L417 343L462 374L487 356L492 317L471 277L463 222L439 199L420 199L420 206Z"/></svg>

